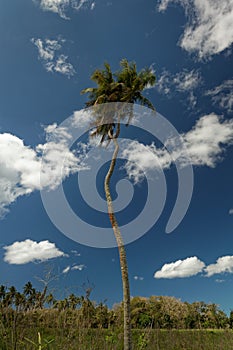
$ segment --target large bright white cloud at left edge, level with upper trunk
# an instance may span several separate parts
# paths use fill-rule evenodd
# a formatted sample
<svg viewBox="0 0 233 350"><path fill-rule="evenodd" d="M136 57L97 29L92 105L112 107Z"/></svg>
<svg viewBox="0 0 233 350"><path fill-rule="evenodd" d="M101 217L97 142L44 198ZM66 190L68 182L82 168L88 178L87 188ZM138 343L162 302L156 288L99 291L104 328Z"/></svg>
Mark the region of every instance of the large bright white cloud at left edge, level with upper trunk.
<svg viewBox="0 0 233 350"><path fill-rule="evenodd" d="M53 190L70 174L86 169L82 155L69 149L70 135L64 127L53 124L45 131L47 142L35 148L15 135L0 134L0 217L18 197Z"/></svg>

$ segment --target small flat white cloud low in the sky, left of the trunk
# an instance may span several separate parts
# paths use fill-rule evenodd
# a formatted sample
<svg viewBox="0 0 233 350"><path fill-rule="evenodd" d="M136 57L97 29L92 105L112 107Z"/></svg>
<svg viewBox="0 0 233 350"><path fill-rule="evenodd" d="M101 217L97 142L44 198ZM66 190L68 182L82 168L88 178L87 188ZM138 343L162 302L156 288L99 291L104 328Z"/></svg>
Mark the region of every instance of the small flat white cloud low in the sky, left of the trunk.
<svg viewBox="0 0 233 350"><path fill-rule="evenodd" d="M6 250L4 261L16 265L65 256L54 243L47 240L41 242L30 239L21 242L16 241L12 245L5 246L4 249Z"/></svg>

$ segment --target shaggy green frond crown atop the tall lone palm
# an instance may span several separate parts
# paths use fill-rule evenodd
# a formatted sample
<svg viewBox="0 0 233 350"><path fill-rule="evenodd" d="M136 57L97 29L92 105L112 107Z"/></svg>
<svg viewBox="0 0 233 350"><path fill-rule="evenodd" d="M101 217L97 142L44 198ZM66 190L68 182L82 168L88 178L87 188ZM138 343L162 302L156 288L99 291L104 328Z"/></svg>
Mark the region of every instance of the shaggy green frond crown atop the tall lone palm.
<svg viewBox="0 0 233 350"><path fill-rule="evenodd" d="M110 65L105 63L104 69L94 71L91 79L97 84L97 87L90 87L81 91L82 94L89 94L86 107L109 102L125 102L128 104L139 103L154 110L153 104L142 95L143 90L155 85L156 78L153 70L144 68L137 72L135 62L128 62L126 59L120 61L120 67L119 71L112 73ZM113 115L100 113L94 123L95 131L91 136L101 135L101 143L106 138L108 140L117 138L120 132L120 119L127 114L129 123L133 116L132 107L127 110L127 113L125 112L126 110L124 113L118 113L117 123L115 123Z"/></svg>

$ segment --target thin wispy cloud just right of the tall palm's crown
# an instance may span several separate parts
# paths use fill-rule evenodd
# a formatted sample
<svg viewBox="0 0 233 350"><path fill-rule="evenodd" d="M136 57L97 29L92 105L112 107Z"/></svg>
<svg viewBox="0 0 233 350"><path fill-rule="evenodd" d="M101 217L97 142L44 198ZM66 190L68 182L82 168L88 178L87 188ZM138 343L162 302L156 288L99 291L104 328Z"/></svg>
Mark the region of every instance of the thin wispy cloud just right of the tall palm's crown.
<svg viewBox="0 0 233 350"><path fill-rule="evenodd" d="M159 93L167 96L174 96L177 92L186 94L189 104L194 107L196 105L194 91L201 83L202 78L197 70L183 69L176 74L164 70L157 81L156 88Z"/></svg>

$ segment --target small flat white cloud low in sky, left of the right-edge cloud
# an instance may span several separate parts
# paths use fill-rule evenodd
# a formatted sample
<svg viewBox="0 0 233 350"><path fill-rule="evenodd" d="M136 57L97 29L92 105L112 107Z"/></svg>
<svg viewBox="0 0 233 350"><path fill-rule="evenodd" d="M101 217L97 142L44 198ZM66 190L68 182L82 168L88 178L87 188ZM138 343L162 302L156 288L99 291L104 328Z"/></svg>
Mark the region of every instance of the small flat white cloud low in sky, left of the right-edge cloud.
<svg viewBox="0 0 233 350"><path fill-rule="evenodd" d="M161 270L156 271L154 278L184 278L195 276L202 272L205 264L196 256L177 260L175 262L165 264Z"/></svg>

